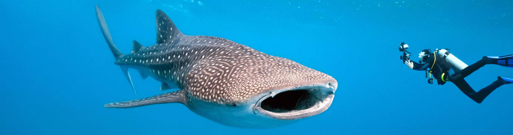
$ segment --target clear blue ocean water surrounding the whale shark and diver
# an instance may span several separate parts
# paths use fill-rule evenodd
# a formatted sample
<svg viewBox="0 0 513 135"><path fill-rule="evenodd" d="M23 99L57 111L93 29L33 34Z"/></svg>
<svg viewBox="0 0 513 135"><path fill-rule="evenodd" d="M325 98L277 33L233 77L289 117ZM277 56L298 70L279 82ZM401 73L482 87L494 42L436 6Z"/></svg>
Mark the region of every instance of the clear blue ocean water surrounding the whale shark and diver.
<svg viewBox="0 0 513 135"><path fill-rule="evenodd" d="M162 94L133 76L134 95L98 27L117 47L155 43L154 13L187 35L227 38L338 80L331 107L268 129L229 127L182 104L104 108ZM513 54L513 1L2 1L0 134L513 134L513 85L483 103L452 83L428 84L402 64L423 49L451 49L467 64ZM133 71L134 73L136 71ZM481 89L513 69L486 65L466 78Z"/></svg>

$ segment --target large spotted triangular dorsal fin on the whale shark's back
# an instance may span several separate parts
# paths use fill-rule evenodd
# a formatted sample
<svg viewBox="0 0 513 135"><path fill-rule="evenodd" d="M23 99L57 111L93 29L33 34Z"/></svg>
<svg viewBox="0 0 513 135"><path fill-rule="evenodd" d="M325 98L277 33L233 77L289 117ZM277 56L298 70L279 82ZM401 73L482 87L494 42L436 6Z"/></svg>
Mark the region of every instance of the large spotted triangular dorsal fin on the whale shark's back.
<svg viewBox="0 0 513 135"><path fill-rule="evenodd" d="M174 26L173 21L171 21L166 13L160 9L155 13L155 24L157 26L157 43L173 40L177 36L183 35L180 30Z"/></svg>

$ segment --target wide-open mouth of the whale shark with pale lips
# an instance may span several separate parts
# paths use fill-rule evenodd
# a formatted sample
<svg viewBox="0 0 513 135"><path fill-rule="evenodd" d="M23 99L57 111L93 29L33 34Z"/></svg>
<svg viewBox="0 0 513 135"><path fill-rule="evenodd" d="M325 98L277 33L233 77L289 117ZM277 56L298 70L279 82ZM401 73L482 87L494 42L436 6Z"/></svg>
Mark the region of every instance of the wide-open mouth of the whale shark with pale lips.
<svg viewBox="0 0 513 135"><path fill-rule="evenodd" d="M282 89L262 97L254 110L280 120L295 120L318 115L328 109L335 88L328 85L310 85Z"/></svg>

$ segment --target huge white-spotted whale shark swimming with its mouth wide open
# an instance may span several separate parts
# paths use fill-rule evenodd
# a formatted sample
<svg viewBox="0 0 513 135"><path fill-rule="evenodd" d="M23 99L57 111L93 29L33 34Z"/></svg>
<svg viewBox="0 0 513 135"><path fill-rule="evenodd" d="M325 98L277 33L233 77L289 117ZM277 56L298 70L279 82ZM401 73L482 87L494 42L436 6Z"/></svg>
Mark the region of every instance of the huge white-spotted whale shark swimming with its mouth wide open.
<svg viewBox="0 0 513 135"><path fill-rule="evenodd" d="M105 107L181 103L220 124L269 128L321 114L333 101L338 85L333 77L221 37L185 35L162 10L155 13L156 44L145 47L134 40L132 52L125 55L114 45L102 11L95 7L114 64L134 92L128 69L162 82L161 91L179 89Z"/></svg>

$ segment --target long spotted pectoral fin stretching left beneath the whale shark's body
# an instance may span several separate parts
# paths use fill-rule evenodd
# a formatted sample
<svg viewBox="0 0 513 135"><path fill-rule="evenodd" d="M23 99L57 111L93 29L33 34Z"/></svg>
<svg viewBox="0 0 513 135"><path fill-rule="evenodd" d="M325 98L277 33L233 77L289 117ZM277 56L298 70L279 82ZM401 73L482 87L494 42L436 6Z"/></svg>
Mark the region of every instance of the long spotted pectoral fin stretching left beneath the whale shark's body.
<svg viewBox="0 0 513 135"><path fill-rule="evenodd" d="M139 107L151 104L163 104L163 103L182 103L185 104L185 91L174 91L165 93L149 98L130 100L125 102L108 103L104 106L107 108L130 108Z"/></svg>

